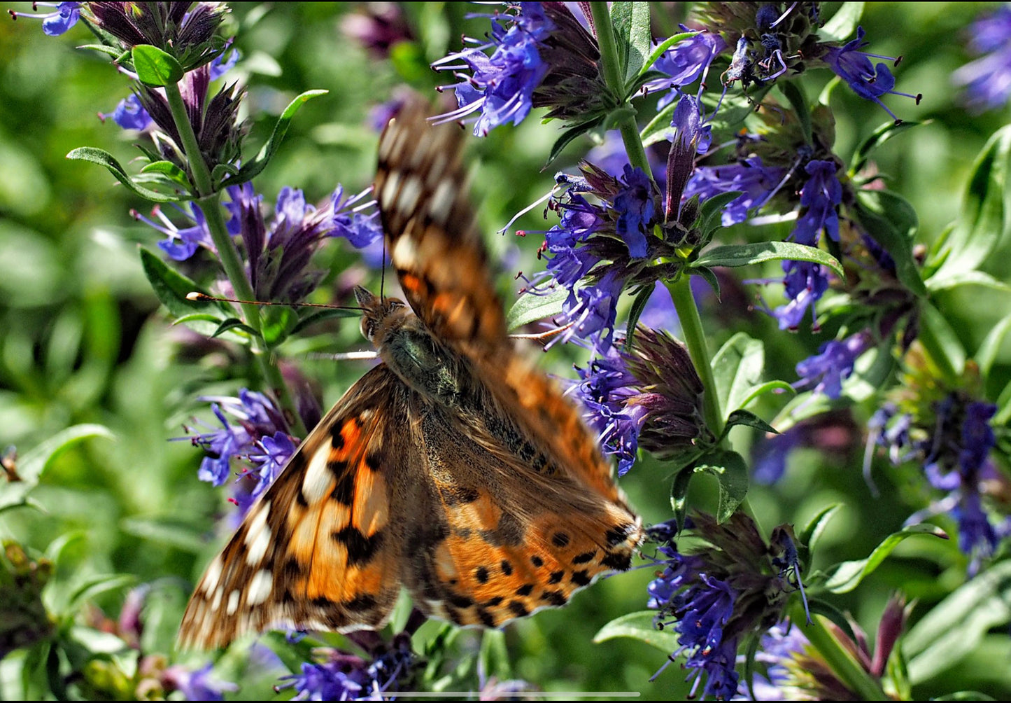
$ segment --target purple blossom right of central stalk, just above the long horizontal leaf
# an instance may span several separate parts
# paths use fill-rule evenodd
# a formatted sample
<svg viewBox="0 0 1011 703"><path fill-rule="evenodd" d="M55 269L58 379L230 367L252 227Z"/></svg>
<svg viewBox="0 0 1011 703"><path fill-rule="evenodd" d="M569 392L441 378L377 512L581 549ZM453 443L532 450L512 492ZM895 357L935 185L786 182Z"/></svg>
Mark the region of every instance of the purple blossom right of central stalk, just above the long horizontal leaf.
<svg viewBox="0 0 1011 703"><path fill-rule="evenodd" d="M724 206L720 217L724 227L730 227L747 219L748 210L763 205L786 174L784 168L763 166L760 157L728 166L700 166L693 172L682 199L698 194L700 199L707 200L728 190L741 191Z"/></svg>

